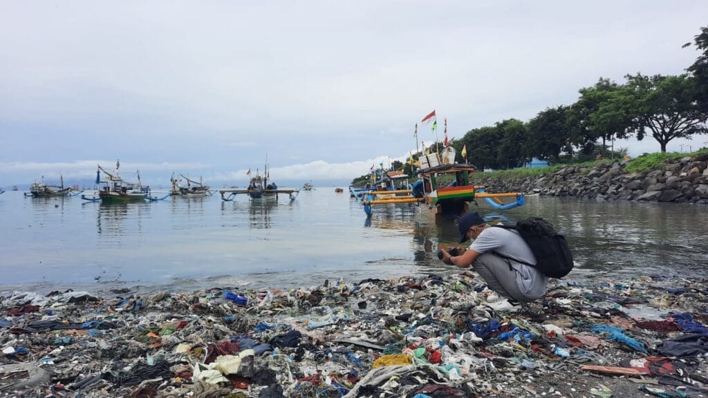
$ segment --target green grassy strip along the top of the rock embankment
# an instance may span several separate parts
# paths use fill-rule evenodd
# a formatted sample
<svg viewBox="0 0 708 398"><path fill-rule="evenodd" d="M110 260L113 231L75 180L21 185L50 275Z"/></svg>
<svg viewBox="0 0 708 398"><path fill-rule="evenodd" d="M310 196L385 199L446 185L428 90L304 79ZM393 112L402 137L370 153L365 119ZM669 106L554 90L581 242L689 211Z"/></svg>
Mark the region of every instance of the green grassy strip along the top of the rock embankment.
<svg viewBox="0 0 708 398"><path fill-rule="evenodd" d="M678 160L683 157L694 157L697 154L706 154L706 153L708 153L708 149L701 149L700 151L690 152L690 153L686 153L686 152L667 152L667 153L656 152L653 154L644 154L640 157L636 157L634 159L629 160L629 164L627 164L627 166L624 167L624 170L629 173L641 173L643 171L658 170L658 169L662 169L663 165L666 164L667 161ZM614 161L617 161L617 159L615 159ZM594 166L597 166L600 163L612 164L614 161L612 159L603 159L603 160L586 161L583 163L554 164L553 166L547 166L547 167L533 167L533 168L526 167L526 168L521 168L521 169L497 170L497 171L489 171L486 173L484 173L483 171L477 171L474 174L474 179L478 180L481 178L491 178L491 179L500 179L500 180L510 180L510 179L517 179L517 178L540 177L543 174L554 174L556 171L559 171L560 169L563 169L566 166L586 167L589 172L590 169L592 169Z"/></svg>

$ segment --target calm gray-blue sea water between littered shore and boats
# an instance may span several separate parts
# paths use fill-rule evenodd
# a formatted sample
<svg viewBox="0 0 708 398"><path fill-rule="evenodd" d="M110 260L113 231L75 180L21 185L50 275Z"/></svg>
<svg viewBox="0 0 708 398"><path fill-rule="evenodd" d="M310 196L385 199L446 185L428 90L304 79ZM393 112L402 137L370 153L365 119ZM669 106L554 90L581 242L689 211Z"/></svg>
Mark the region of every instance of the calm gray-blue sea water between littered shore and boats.
<svg viewBox="0 0 708 398"><path fill-rule="evenodd" d="M704 205L532 197L503 214L484 204L479 211L505 223L531 215L552 222L573 247L574 278L703 277L708 268ZM456 271L435 254L438 243L457 241L454 222L435 223L416 205L377 207L367 219L333 187L293 201L217 194L128 205L6 192L0 235L0 290L287 288Z"/></svg>

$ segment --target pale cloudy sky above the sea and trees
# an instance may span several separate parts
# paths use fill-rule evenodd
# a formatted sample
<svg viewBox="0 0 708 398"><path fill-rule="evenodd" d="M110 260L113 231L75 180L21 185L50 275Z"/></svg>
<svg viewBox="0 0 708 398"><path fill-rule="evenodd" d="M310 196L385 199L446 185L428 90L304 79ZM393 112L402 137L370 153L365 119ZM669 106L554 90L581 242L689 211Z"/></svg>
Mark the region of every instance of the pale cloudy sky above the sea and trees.
<svg viewBox="0 0 708 398"><path fill-rule="evenodd" d="M348 183L450 137L569 105L600 76L680 74L706 1L0 0L0 186ZM442 140L442 128L438 132ZM435 135L421 127L419 140ZM675 140L669 151L706 146ZM623 140L637 156L658 142ZM681 145L684 145L681 147ZM474 152L468 157L474 163Z"/></svg>

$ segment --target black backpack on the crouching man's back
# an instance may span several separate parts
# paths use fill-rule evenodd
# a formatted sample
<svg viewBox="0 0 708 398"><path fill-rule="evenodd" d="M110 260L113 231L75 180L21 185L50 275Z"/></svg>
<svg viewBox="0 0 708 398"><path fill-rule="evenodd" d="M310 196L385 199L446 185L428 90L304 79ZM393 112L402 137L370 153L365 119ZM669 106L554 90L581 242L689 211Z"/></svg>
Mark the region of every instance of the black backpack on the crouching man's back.
<svg viewBox="0 0 708 398"><path fill-rule="evenodd" d="M498 256L535 267L549 278L563 278L573 269L573 254L566 238L556 232L553 225L546 220L530 217L516 222L515 226L493 225L493 227L518 231L536 257L536 265L496 253Z"/></svg>

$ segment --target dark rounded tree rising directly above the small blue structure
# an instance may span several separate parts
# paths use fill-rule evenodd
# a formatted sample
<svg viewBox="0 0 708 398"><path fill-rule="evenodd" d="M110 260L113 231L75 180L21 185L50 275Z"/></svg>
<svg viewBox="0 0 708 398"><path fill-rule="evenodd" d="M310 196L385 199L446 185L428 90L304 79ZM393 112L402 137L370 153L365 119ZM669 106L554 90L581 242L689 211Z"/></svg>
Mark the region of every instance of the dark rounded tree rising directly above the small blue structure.
<svg viewBox="0 0 708 398"><path fill-rule="evenodd" d="M540 159L558 161L561 151L573 153L571 135L569 132L570 110L566 106L546 108L529 120L526 125L528 132L528 149Z"/></svg>

